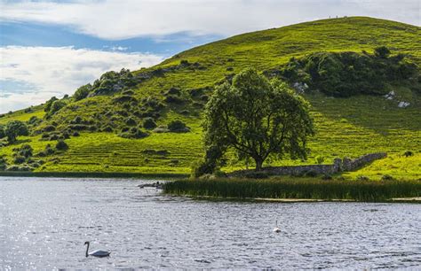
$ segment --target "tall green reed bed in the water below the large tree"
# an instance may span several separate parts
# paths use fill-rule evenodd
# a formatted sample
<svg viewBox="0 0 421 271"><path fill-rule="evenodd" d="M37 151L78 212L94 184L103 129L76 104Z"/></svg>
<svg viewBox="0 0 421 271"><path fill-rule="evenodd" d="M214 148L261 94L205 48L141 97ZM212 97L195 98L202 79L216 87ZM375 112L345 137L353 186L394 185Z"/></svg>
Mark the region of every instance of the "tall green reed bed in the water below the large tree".
<svg viewBox="0 0 421 271"><path fill-rule="evenodd" d="M323 181L320 179L181 180L164 184L164 193L193 197L311 198L385 201L421 196L419 181Z"/></svg>

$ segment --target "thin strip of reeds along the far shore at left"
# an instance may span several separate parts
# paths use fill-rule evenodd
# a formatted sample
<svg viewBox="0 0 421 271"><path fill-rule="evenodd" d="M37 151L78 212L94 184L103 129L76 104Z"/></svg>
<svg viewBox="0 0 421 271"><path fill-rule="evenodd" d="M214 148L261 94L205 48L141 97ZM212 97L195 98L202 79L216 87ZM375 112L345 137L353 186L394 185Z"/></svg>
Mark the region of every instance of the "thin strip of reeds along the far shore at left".
<svg viewBox="0 0 421 271"><path fill-rule="evenodd" d="M116 178L116 179L180 179L189 174L147 174L147 173L113 173L113 172L31 172L31 171L0 171L0 177L45 177L45 178Z"/></svg>

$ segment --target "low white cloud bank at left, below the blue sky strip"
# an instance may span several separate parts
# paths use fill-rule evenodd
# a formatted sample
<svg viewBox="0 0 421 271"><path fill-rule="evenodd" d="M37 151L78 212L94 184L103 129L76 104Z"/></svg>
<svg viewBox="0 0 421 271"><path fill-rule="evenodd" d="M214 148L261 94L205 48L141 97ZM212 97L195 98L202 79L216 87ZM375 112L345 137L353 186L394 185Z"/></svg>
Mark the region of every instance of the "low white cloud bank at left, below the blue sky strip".
<svg viewBox="0 0 421 271"><path fill-rule="evenodd" d="M106 71L153 66L160 56L74 49L72 47L0 47L0 80L23 82L17 89L0 85L0 112L39 105L52 96L73 94ZM33 86L34 89L28 89Z"/></svg>

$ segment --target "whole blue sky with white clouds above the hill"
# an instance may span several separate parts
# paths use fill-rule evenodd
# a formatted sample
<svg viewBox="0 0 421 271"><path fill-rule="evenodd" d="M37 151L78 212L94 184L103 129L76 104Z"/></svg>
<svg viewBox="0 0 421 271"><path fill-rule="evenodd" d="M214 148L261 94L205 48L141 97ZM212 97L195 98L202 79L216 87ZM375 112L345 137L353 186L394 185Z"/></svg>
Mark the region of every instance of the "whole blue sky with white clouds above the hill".
<svg viewBox="0 0 421 271"><path fill-rule="evenodd" d="M230 35L330 16L421 25L420 0L0 0L0 112Z"/></svg>

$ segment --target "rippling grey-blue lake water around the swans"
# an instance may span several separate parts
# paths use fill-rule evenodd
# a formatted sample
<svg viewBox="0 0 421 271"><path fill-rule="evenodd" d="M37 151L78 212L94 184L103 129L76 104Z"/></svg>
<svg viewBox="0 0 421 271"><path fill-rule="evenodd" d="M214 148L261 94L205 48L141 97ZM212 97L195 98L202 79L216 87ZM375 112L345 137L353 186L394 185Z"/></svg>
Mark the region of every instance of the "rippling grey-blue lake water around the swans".
<svg viewBox="0 0 421 271"><path fill-rule="evenodd" d="M215 202L145 182L0 177L0 269L421 267L419 204Z"/></svg>

